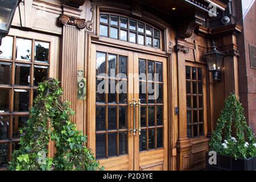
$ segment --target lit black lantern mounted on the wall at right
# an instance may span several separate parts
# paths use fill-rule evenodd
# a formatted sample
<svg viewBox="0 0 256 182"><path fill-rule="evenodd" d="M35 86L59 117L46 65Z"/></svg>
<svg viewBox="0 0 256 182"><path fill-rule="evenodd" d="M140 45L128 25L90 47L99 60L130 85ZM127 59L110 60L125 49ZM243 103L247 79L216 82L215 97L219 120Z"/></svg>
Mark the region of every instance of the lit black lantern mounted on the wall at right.
<svg viewBox="0 0 256 182"><path fill-rule="evenodd" d="M213 41L212 50L205 54L209 71L212 72L213 80L221 81L221 66L225 54L217 50Z"/></svg>

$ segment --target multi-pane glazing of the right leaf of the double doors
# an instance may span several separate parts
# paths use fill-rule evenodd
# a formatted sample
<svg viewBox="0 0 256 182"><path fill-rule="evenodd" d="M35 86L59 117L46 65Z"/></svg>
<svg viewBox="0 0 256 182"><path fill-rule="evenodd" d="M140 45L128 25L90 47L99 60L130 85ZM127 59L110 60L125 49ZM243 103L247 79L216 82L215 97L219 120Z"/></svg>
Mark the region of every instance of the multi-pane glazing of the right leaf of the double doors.
<svg viewBox="0 0 256 182"><path fill-rule="evenodd" d="M139 59L141 135L139 150L163 147L163 64Z"/></svg>

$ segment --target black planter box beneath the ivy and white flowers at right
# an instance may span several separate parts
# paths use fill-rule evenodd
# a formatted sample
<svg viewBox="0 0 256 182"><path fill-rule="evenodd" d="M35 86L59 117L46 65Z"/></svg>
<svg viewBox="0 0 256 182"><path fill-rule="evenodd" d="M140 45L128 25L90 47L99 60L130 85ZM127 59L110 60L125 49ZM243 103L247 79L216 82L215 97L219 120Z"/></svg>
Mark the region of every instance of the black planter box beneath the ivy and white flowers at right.
<svg viewBox="0 0 256 182"><path fill-rule="evenodd" d="M210 165L207 153L207 171L256 171L256 157L249 159L234 159L226 155L217 154L217 164Z"/></svg>

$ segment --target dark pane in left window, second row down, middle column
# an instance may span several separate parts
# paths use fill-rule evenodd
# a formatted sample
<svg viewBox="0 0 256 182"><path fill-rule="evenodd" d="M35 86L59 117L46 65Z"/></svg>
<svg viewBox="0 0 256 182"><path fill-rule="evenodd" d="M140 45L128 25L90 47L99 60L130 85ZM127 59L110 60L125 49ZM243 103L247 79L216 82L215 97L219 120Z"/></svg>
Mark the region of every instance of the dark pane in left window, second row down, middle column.
<svg viewBox="0 0 256 182"><path fill-rule="evenodd" d="M30 65L15 64L15 85L30 85Z"/></svg>

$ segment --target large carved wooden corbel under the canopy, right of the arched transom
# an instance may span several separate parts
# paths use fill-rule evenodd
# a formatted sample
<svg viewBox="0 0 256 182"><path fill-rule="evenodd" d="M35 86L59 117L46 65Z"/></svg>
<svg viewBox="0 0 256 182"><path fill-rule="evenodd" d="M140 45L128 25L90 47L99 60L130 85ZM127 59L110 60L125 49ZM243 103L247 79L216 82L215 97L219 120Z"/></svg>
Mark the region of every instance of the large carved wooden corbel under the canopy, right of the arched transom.
<svg viewBox="0 0 256 182"><path fill-rule="evenodd" d="M190 20L189 22L181 24L181 26L177 30L177 35L181 39L190 38L195 28L202 25L202 23L203 23L202 20L195 18L193 20Z"/></svg>

